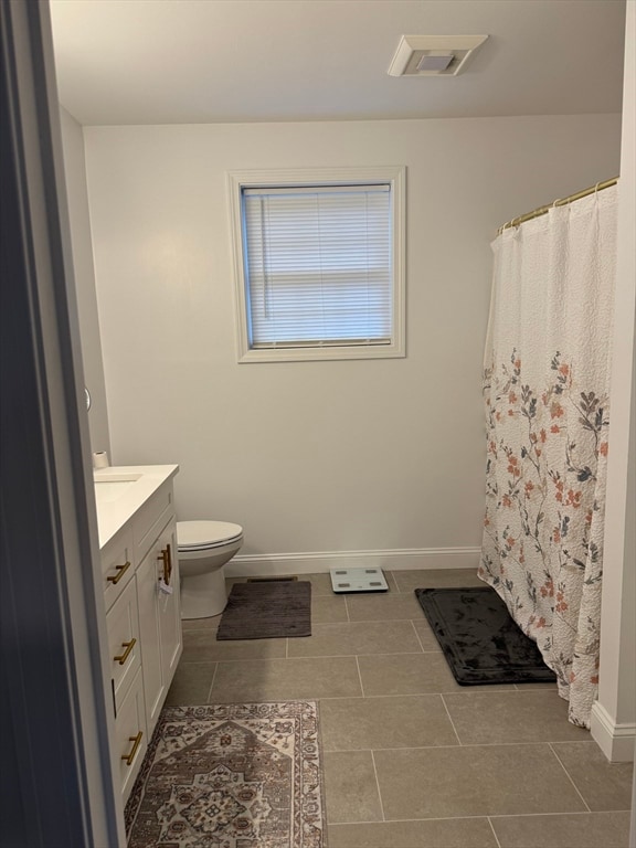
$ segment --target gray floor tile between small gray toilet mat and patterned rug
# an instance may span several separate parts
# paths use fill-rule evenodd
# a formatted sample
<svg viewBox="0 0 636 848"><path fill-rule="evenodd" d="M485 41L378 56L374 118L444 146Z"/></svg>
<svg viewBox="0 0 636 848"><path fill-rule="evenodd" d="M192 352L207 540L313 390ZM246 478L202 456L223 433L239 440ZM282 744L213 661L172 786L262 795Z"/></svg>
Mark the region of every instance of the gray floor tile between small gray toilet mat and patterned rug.
<svg viewBox="0 0 636 848"><path fill-rule="evenodd" d="M356 657L301 657L220 662L214 703L359 697Z"/></svg>

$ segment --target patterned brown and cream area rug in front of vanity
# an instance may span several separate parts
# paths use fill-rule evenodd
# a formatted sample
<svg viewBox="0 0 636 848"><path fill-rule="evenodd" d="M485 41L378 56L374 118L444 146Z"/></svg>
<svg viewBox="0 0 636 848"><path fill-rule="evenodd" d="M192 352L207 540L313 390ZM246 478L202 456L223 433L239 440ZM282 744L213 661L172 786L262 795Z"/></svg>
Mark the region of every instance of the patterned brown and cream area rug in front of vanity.
<svg viewBox="0 0 636 848"><path fill-rule="evenodd" d="M324 848L315 701L166 707L128 848Z"/></svg>

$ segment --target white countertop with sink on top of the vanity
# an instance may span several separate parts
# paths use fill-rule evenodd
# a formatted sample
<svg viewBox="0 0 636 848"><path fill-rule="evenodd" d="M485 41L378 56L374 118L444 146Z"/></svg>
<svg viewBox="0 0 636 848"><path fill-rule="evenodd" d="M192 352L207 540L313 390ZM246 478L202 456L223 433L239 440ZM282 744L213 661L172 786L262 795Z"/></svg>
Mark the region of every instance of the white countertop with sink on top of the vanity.
<svg viewBox="0 0 636 848"><path fill-rule="evenodd" d="M118 465L94 470L99 549L178 471L178 465Z"/></svg>

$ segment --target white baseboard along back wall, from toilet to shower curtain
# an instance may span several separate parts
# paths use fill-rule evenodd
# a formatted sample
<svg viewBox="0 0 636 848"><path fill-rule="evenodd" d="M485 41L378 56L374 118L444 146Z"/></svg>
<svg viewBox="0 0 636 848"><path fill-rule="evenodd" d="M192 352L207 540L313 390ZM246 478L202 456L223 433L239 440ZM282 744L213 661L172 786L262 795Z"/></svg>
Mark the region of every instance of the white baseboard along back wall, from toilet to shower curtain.
<svg viewBox="0 0 636 848"><path fill-rule="evenodd" d="M237 554L227 565L229 577L253 577L259 574L328 573L331 569L474 569L479 565L479 548L409 548L385 551L316 551L311 553Z"/></svg>

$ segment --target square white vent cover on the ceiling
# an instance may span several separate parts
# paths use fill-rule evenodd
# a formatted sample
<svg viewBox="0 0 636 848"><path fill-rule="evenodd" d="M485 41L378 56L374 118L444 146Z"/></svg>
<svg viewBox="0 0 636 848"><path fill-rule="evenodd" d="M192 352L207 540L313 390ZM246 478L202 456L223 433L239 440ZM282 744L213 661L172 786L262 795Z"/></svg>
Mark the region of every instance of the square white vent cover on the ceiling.
<svg viewBox="0 0 636 848"><path fill-rule="evenodd" d="M402 35L391 76L457 76L488 35Z"/></svg>

